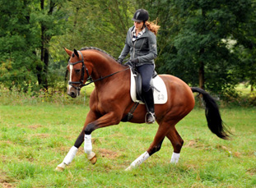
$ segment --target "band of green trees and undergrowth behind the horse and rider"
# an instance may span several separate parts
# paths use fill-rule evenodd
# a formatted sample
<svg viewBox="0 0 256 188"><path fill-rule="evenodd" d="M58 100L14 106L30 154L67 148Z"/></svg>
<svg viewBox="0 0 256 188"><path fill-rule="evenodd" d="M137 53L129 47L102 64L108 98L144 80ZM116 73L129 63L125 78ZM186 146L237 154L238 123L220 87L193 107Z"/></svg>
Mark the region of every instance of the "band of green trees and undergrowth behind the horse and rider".
<svg viewBox="0 0 256 188"><path fill-rule="evenodd" d="M255 0L0 0L0 85L37 96L61 90L65 48L93 46L118 58L131 18L147 9L157 34L159 74L178 76L220 99L249 85L255 104Z"/></svg>

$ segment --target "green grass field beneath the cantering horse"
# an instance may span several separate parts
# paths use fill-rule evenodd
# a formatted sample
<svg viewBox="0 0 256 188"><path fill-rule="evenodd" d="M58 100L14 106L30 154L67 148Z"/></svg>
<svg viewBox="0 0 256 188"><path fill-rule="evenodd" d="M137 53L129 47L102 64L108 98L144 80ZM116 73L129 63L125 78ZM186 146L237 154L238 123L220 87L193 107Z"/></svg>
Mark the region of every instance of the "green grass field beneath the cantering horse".
<svg viewBox="0 0 256 188"><path fill-rule="evenodd" d="M95 165L83 145L64 172L63 161L79 135L86 105L37 103L0 106L0 185L18 187L256 187L256 108L222 108L232 140L207 128L204 110L196 108L176 126L184 139L177 165L172 146L125 172L144 153L157 125L120 123L92 133Z"/></svg>

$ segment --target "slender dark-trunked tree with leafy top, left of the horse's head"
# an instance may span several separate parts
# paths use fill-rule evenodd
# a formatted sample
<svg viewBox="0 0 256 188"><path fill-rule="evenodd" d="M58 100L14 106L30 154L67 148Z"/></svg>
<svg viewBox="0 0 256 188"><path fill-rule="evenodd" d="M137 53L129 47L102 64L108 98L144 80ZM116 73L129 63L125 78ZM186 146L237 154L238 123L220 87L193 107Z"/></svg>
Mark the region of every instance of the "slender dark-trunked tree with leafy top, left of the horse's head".
<svg viewBox="0 0 256 188"><path fill-rule="evenodd" d="M40 9L35 11L34 22L40 25L40 60L41 64L36 66L39 85L48 89L49 71L49 43L53 36L64 33L66 25L66 11L63 10L63 3L59 0L40 0Z"/></svg>

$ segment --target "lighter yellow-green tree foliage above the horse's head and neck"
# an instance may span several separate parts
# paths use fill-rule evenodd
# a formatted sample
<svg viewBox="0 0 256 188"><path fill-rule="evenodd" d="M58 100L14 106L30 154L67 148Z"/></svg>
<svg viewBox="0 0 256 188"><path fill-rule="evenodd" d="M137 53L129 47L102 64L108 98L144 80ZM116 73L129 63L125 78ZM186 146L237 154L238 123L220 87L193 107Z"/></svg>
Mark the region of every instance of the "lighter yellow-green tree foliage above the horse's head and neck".
<svg viewBox="0 0 256 188"><path fill-rule="evenodd" d="M67 2L66 33L54 37L50 42L52 54L50 65L65 72L67 66L66 48L93 46L105 50L113 57L119 57L128 28L133 25L133 0L72 0ZM60 72L51 69L58 76ZM57 73L57 74L56 74Z"/></svg>

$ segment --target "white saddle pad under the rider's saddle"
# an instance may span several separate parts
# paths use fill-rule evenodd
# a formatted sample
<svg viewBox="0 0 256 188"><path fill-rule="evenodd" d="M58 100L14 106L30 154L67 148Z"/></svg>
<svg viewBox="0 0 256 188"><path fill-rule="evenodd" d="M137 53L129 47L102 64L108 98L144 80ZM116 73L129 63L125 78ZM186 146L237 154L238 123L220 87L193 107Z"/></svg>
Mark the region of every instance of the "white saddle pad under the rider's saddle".
<svg viewBox="0 0 256 188"><path fill-rule="evenodd" d="M163 104L167 102L167 90L165 82L161 79L160 76L156 76L153 80L153 90L154 90L154 102L155 104ZM131 89L130 89L131 98L134 103L142 103L142 101L137 100L136 97L136 85L133 72L131 71Z"/></svg>

